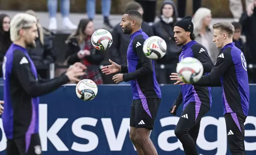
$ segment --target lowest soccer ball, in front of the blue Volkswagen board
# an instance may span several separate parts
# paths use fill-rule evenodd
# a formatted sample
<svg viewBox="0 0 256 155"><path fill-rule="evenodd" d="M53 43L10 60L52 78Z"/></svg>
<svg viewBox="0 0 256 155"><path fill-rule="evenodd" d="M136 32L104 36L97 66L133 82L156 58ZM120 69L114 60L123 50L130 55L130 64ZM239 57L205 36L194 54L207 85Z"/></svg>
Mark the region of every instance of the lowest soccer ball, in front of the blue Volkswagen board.
<svg viewBox="0 0 256 155"><path fill-rule="evenodd" d="M92 100L98 93L98 87L95 82L90 79L82 79L76 85L76 95L81 100Z"/></svg>

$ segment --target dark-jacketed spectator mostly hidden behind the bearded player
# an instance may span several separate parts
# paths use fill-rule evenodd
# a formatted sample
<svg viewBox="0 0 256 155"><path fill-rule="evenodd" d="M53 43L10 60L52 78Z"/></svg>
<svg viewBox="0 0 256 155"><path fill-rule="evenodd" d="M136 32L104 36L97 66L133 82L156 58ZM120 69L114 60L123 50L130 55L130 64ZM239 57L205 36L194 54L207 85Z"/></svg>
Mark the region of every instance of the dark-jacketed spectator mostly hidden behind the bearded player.
<svg viewBox="0 0 256 155"><path fill-rule="evenodd" d="M125 12L129 10L137 10L143 15L142 6L138 2L129 2L126 4ZM153 30L144 21L142 22L142 30L150 37L153 36ZM130 36L124 34L119 24L114 26L112 31L113 43L109 49L111 54L111 60L117 64L127 64L127 49L130 42Z"/></svg>

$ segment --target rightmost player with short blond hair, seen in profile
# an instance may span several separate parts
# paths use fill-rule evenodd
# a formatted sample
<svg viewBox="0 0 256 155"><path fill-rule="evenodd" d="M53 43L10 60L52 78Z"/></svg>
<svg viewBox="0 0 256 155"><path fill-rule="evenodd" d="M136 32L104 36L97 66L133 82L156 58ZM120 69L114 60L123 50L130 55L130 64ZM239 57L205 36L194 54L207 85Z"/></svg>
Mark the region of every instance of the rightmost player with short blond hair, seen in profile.
<svg viewBox="0 0 256 155"><path fill-rule="evenodd" d="M246 60L244 53L233 43L234 31L234 26L229 22L213 25L213 42L221 51L210 74L202 76L193 85L222 87L230 152L232 155L245 155L244 122L248 116L250 91Z"/></svg>

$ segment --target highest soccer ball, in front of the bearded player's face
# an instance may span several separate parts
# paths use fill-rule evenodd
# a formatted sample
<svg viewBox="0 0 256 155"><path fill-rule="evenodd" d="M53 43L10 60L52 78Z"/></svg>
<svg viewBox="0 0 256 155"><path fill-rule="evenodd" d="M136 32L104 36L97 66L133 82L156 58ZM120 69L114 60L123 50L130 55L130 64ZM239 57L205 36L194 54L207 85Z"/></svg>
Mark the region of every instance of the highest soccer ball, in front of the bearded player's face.
<svg viewBox="0 0 256 155"><path fill-rule="evenodd" d="M95 49L100 51L105 51L112 45L112 35L109 31L104 29L99 29L93 33L91 36L91 43Z"/></svg>

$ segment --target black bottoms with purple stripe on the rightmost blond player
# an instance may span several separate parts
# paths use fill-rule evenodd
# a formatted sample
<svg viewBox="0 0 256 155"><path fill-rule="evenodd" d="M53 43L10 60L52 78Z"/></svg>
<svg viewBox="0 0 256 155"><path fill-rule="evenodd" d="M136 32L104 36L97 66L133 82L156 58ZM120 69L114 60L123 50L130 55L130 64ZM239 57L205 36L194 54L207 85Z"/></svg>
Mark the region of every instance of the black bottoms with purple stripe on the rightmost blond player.
<svg viewBox="0 0 256 155"><path fill-rule="evenodd" d="M224 115L227 129L227 140L232 155L245 155L244 149L244 122L245 115L226 113Z"/></svg>

